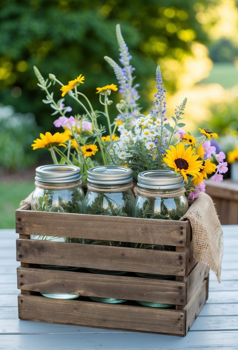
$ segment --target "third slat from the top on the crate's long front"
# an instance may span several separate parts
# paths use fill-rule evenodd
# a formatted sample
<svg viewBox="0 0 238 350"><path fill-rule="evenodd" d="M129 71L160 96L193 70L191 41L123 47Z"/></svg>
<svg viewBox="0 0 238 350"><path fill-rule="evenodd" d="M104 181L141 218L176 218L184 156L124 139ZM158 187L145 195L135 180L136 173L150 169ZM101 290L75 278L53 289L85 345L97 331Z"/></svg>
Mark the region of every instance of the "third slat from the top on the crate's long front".
<svg viewBox="0 0 238 350"><path fill-rule="evenodd" d="M17 282L19 289L34 292L185 304L185 282L171 280L18 268Z"/></svg>

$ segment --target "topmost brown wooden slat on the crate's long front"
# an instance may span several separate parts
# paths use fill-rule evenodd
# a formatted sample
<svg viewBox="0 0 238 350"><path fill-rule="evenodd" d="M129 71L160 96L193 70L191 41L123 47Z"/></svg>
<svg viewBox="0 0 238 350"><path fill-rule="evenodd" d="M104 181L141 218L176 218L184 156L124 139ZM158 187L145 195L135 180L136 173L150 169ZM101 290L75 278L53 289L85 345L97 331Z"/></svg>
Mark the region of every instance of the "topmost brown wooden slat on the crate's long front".
<svg viewBox="0 0 238 350"><path fill-rule="evenodd" d="M18 221L19 218L21 221ZM16 232L25 235L186 246L190 239L189 229L188 221L16 211Z"/></svg>

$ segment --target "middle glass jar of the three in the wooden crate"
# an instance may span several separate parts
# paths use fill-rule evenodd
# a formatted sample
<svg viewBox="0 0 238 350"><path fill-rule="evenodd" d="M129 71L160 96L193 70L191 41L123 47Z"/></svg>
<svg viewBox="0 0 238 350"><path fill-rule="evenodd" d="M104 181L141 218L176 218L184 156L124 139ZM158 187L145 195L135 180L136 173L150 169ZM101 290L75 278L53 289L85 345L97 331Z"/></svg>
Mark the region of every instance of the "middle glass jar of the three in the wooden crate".
<svg viewBox="0 0 238 350"><path fill-rule="evenodd" d="M84 198L84 214L132 216L134 202L132 170L120 166L101 166L88 170L88 191ZM129 247L127 242L83 239L85 244L100 244ZM109 271L90 268L93 273L111 275L125 274L125 271ZM125 300L96 298L92 300L118 303Z"/></svg>

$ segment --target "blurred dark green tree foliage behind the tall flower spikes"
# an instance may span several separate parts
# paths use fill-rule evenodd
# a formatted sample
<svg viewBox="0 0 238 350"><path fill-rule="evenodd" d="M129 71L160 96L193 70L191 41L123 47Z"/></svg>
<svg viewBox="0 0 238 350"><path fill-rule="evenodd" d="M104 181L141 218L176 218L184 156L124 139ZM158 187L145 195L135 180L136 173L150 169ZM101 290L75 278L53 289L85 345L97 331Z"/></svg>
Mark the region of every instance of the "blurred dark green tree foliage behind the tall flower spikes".
<svg viewBox="0 0 238 350"><path fill-rule="evenodd" d="M104 56L117 59L115 26L120 23L133 56L142 105L149 106L148 82L161 57L181 60L189 54L190 41L181 30L191 30L193 39L206 41L196 21L196 0L2 0L0 4L0 99L20 112L36 115L38 125L51 131L49 106L43 105L33 66L47 76L49 70L67 84L82 73L83 93L91 96L96 87L115 82ZM192 40L193 40L192 39ZM179 48L179 50L177 50ZM145 68L146 67L146 68ZM174 82L166 82L175 89ZM14 97L14 87L22 91ZM60 97L58 87L55 93ZM33 102L34 101L34 102ZM97 96L92 100L96 108ZM74 104L72 103L72 108Z"/></svg>

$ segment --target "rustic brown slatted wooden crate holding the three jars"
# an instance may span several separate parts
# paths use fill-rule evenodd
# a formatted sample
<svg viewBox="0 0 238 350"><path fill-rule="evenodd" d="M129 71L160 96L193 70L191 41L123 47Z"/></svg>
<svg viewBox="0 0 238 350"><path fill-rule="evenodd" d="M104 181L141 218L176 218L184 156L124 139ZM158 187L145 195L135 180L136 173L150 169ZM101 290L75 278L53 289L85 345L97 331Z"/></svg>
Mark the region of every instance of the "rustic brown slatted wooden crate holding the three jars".
<svg viewBox="0 0 238 350"><path fill-rule="evenodd" d="M185 336L208 297L209 269L195 264L188 221L93 216L16 210L19 318L127 331ZM30 235L166 244L176 251L87 245L30 239ZM80 267L77 271L43 269L39 264ZM128 271L103 275L85 268ZM173 280L141 278L133 272L175 275ZM45 293L71 293L74 300ZM90 301L88 296L127 299L121 304ZM140 306L136 300L173 304Z"/></svg>

